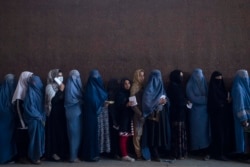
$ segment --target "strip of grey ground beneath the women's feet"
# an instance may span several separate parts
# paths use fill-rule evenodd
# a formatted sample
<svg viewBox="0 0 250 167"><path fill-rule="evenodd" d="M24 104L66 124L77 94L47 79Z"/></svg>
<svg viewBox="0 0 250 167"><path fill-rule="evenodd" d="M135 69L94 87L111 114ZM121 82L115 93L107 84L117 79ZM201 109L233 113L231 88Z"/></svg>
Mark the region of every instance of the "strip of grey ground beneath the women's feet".
<svg viewBox="0 0 250 167"><path fill-rule="evenodd" d="M68 163L68 162L49 162L42 161L40 165L33 164L6 164L4 166L53 166L53 167L249 167L249 163L234 162L234 161L217 161L209 160L203 161L200 159L188 158L185 160L176 160L172 163L167 162L149 162L149 161L135 161L135 162L124 162L119 160L101 159L99 162L79 162L79 163Z"/></svg>

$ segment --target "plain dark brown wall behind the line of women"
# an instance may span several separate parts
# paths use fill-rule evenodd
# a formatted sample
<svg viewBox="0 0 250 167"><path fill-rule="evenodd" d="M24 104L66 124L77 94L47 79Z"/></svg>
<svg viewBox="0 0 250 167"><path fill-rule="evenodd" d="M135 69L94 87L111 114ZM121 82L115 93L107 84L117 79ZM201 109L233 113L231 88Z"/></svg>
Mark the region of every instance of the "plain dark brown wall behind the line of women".
<svg viewBox="0 0 250 167"><path fill-rule="evenodd" d="M249 0L11 0L0 2L0 76L45 80L78 69L86 82L160 69L220 70L228 82L249 67Z"/></svg>

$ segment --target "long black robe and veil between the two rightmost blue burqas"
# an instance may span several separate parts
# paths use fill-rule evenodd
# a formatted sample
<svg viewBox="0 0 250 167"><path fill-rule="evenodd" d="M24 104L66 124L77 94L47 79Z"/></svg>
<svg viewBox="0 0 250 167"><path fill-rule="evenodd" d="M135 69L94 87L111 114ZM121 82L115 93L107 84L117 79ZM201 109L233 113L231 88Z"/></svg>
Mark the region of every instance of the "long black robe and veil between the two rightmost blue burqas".
<svg viewBox="0 0 250 167"><path fill-rule="evenodd" d="M222 76L218 71L212 73L208 89L208 113L211 123L211 156L216 159L223 159L228 146L227 128L229 127L227 111L227 91L223 79L216 79Z"/></svg>

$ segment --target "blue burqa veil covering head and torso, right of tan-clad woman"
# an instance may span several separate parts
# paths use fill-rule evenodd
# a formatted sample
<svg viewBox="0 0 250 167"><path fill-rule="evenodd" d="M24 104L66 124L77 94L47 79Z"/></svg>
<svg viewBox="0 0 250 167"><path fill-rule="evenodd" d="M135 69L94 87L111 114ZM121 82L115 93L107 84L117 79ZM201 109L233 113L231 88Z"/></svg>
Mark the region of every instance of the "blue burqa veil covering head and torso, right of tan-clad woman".
<svg viewBox="0 0 250 167"><path fill-rule="evenodd" d="M142 96L142 111L144 117L154 112L159 105L162 95L166 96L166 92L161 72L159 70L153 70L149 76L148 83Z"/></svg>

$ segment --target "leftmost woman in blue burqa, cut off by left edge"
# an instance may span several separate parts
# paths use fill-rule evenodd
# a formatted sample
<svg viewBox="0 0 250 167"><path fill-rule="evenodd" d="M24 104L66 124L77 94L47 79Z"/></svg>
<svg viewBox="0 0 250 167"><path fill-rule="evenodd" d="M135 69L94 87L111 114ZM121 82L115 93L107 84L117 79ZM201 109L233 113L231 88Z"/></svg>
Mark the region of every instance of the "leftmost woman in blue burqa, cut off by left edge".
<svg viewBox="0 0 250 167"><path fill-rule="evenodd" d="M0 87L0 164L12 161L16 155L14 141L15 120L11 103L15 88L14 75L7 74L4 83Z"/></svg>

